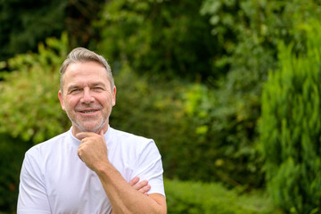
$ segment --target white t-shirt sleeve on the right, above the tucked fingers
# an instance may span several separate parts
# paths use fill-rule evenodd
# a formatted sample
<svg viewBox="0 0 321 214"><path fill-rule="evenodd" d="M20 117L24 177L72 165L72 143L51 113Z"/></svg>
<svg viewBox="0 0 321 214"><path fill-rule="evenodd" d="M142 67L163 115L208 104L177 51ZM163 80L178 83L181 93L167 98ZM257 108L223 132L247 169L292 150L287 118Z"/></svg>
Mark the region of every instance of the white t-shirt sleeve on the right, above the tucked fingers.
<svg viewBox="0 0 321 214"><path fill-rule="evenodd" d="M161 193L165 196L161 154L153 141L150 141L136 161L133 177L147 180L151 185L148 193Z"/></svg>

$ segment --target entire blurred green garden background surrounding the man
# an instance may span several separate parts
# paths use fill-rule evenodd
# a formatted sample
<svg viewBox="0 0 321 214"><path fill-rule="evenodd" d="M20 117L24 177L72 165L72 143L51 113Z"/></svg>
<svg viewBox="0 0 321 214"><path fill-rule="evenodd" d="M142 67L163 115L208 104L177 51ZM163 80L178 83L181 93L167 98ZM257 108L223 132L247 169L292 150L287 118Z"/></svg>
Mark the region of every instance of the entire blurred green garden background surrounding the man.
<svg viewBox="0 0 321 214"><path fill-rule="evenodd" d="M320 18L317 0L0 0L0 213L24 153L70 128L76 46L111 64L111 127L158 145L169 213L321 213Z"/></svg>

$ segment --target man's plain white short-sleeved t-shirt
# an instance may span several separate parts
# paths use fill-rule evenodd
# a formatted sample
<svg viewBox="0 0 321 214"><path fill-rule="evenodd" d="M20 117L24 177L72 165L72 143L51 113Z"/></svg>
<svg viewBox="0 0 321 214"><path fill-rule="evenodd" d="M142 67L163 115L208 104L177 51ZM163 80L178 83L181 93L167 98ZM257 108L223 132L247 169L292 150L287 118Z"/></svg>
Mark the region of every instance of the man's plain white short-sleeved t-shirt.
<svg viewBox="0 0 321 214"><path fill-rule="evenodd" d="M104 137L108 159L127 182L140 177L151 185L148 193L165 196L161 154L151 139L111 127ZM99 178L78 158L79 144L70 129L26 152L21 168L18 213L111 212L111 203Z"/></svg>

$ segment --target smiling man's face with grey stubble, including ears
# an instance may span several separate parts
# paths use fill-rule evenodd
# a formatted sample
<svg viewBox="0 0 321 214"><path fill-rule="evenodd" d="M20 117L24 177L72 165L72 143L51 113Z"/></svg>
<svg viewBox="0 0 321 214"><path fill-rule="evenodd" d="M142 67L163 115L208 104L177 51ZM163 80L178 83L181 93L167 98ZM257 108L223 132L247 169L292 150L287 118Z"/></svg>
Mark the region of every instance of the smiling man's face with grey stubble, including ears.
<svg viewBox="0 0 321 214"><path fill-rule="evenodd" d="M58 96L62 110L72 122L73 135L83 131L106 131L111 108L116 102L116 87L111 90L105 68L96 62L71 63L62 80Z"/></svg>

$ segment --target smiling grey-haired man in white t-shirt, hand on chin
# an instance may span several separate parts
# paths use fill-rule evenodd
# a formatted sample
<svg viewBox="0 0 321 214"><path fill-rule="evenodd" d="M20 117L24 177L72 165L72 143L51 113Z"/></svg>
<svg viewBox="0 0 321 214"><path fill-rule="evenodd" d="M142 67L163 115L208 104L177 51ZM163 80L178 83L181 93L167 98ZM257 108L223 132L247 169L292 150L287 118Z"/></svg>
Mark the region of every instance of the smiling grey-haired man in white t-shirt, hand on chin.
<svg viewBox="0 0 321 214"><path fill-rule="evenodd" d="M72 50L58 97L72 127L26 152L18 213L166 213L156 145L109 125L116 87L103 57Z"/></svg>

